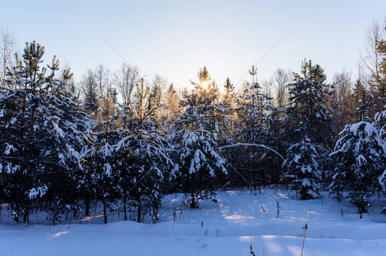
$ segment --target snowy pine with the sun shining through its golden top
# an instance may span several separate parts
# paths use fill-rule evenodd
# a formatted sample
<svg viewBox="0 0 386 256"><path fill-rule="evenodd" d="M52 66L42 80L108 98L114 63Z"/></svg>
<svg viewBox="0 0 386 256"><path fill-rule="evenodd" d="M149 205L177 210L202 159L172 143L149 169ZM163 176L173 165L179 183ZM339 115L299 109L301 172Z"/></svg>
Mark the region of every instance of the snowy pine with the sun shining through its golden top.
<svg viewBox="0 0 386 256"><path fill-rule="evenodd" d="M204 67L198 72L198 83L192 94L185 95L181 106L185 112L179 116L174 144L177 148L172 176L179 190L190 196L190 207L198 207L197 200L212 199L218 178L227 175L225 160L218 154L216 140L223 134L224 110L214 103L218 99L218 88L210 81Z"/></svg>

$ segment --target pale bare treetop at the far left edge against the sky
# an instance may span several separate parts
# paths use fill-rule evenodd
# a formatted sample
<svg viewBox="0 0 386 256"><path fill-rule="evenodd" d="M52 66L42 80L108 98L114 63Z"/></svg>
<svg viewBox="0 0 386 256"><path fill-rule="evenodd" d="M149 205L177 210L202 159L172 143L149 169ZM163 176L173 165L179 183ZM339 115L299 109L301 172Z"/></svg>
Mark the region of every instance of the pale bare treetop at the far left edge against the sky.
<svg viewBox="0 0 386 256"><path fill-rule="evenodd" d="M0 84L3 85L5 74L7 73L7 67L10 68L10 66L12 66L12 54L16 51L16 37L10 31L8 24L0 27L0 51Z"/></svg>

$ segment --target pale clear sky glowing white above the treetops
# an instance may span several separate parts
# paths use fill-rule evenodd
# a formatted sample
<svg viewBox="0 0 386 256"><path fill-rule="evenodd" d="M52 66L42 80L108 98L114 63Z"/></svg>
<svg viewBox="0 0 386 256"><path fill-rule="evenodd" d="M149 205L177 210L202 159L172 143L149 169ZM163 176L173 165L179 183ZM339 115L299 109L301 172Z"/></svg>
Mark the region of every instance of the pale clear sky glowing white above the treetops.
<svg viewBox="0 0 386 256"><path fill-rule="evenodd" d="M185 87L203 66L217 84L236 84L283 37L260 62L260 81L279 67L299 71L305 57L329 78L342 68L355 76L366 31L385 15L386 1L5 1L0 22L20 49L36 40L76 78L122 64L103 37L148 79Z"/></svg>

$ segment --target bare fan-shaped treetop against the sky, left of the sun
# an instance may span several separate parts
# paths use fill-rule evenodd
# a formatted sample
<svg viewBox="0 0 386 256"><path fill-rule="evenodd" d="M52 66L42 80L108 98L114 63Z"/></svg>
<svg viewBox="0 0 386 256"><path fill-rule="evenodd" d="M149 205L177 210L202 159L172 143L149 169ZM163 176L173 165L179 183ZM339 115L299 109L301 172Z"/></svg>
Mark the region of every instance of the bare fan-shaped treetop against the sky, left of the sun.
<svg viewBox="0 0 386 256"><path fill-rule="evenodd" d="M122 103L125 106L130 105L135 84L139 81L139 72L137 67L122 64L119 71L115 73L114 84L120 92Z"/></svg>

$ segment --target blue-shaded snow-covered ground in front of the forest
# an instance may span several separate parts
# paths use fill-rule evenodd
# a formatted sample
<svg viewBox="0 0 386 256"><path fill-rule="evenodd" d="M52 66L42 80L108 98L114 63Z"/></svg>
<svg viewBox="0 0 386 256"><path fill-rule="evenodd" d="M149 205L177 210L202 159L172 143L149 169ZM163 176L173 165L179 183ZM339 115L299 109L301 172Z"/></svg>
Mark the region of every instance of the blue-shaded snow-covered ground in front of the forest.
<svg viewBox="0 0 386 256"><path fill-rule="evenodd" d="M306 222L303 255L386 255L386 216L378 214L384 199L374 198L363 219L348 201L328 195L297 201L293 193L272 188L257 195L220 192L218 203L201 202L200 209L184 209L181 200L166 196L157 224L103 225L95 224L97 218L52 227L0 225L0 255L236 256L251 255L251 244L256 255L300 255Z"/></svg>

